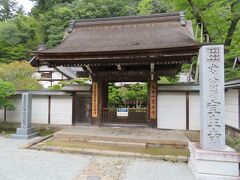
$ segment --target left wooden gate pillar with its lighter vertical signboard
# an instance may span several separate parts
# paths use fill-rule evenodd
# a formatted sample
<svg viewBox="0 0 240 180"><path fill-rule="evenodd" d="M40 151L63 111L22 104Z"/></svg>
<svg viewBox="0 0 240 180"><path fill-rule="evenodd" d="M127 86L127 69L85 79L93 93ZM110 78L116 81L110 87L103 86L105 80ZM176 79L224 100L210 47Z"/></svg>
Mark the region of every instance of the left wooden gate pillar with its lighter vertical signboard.
<svg viewBox="0 0 240 180"><path fill-rule="evenodd" d="M92 83L92 124L99 126L102 117L102 82Z"/></svg>

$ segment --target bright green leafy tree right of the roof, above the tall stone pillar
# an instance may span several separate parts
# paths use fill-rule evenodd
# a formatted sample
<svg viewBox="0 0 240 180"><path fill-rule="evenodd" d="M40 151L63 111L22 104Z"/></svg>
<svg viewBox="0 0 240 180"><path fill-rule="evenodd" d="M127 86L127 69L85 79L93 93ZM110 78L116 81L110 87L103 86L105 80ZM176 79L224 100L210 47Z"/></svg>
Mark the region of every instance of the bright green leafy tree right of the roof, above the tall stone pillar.
<svg viewBox="0 0 240 180"><path fill-rule="evenodd" d="M240 1L169 0L169 3L176 11L184 10L194 25L204 23L204 33L209 34L211 43L225 45L225 65L231 67L234 58L240 56ZM226 79L236 73L230 71L226 70Z"/></svg>

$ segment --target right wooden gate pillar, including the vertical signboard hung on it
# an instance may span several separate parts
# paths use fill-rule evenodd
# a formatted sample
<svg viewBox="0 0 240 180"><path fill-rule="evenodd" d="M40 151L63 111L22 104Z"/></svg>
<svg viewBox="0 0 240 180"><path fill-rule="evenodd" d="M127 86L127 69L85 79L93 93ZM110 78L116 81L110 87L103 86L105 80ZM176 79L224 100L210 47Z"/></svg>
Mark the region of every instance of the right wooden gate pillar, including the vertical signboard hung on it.
<svg viewBox="0 0 240 180"><path fill-rule="evenodd" d="M148 125L157 128L157 81L148 82Z"/></svg>

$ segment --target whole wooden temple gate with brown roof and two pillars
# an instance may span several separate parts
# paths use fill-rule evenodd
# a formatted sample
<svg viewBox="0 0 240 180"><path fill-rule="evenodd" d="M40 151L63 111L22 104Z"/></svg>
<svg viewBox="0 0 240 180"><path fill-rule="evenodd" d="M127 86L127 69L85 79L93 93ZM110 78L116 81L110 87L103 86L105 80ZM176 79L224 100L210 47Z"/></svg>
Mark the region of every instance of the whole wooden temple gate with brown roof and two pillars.
<svg viewBox="0 0 240 180"><path fill-rule="evenodd" d="M157 127L157 81L160 76L177 74L183 63L191 63L200 47L182 12L80 20L71 22L60 45L35 52L31 64L82 67L92 79L94 125L109 117L109 82L146 82L147 118L140 122Z"/></svg>

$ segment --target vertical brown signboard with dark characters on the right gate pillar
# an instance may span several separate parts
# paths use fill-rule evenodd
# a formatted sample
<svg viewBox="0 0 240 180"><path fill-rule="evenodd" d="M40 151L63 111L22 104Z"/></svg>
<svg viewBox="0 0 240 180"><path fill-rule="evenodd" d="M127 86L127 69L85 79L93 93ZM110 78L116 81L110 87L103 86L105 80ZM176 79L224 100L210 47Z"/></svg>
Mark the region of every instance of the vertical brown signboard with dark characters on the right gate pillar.
<svg viewBox="0 0 240 180"><path fill-rule="evenodd" d="M150 82L150 119L157 119L157 83Z"/></svg>

